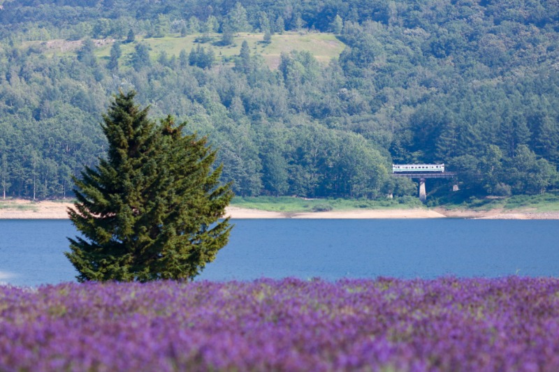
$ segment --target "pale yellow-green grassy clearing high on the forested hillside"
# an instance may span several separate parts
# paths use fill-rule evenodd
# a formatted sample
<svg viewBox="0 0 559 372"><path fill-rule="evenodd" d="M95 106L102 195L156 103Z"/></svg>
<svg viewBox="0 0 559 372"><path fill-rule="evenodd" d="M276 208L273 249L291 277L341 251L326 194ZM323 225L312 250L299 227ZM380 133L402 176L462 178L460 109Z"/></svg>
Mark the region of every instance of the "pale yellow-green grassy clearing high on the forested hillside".
<svg viewBox="0 0 559 372"><path fill-rule="evenodd" d="M233 45L220 45L221 35L210 34L210 40L207 43L198 43L201 34L192 34L184 37L178 35L169 35L164 38L142 38L137 37L136 41L146 43L150 46L150 54L152 59L157 59L161 52L166 52L168 57L178 57L181 50L190 52L196 45L205 48L212 48L218 61L227 60L228 57L237 56L240 51L240 45L243 40L247 40L253 54L260 54L270 68L277 68L279 65L279 55L282 52L291 52L291 50L311 52L314 57L327 64L331 59L338 57L344 50L344 43L338 40L334 34L329 33L306 33L286 32L284 34L275 34L272 36L271 43L263 43L263 34L259 33L240 33L234 38ZM96 44L96 56L101 59L108 59L110 47L115 40L94 40ZM47 57L53 55L75 55L75 52L82 45L80 40L51 40L48 42L29 42L24 43L25 46L35 45L40 47ZM122 44L121 61L126 61L134 50L134 44Z"/></svg>

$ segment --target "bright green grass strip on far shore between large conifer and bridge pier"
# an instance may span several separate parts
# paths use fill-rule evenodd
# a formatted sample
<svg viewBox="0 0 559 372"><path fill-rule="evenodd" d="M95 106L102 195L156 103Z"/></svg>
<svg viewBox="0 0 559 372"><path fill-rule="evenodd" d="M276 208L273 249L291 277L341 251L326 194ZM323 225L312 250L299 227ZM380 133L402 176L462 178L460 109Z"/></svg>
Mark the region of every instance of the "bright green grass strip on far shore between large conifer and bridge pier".
<svg viewBox="0 0 559 372"><path fill-rule="evenodd" d="M391 200L351 200L351 199L304 199L282 197L235 197L234 207L260 209L263 211L305 212L305 211L349 211L355 209L409 209L423 208L417 198L404 197Z"/></svg>

